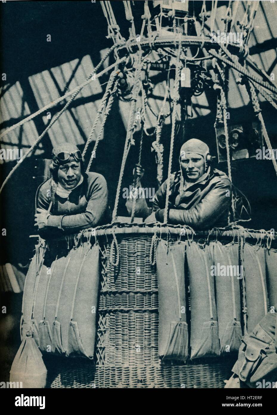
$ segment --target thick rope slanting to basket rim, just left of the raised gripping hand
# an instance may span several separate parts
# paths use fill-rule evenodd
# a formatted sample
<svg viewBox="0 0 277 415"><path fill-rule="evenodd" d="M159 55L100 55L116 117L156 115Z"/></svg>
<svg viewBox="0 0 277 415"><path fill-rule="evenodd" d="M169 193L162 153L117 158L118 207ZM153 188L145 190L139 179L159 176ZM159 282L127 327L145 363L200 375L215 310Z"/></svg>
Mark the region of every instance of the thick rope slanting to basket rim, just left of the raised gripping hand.
<svg viewBox="0 0 277 415"><path fill-rule="evenodd" d="M141 54L140 54L139 60L140 59L141 59ZM136 112L136 100L137 100L137 97L138 97L138 94L139 94L140 74L141 74L141 61L140 61L140 64L137 65L136 72L135 72L135 75L134 75L134 85L133 85L133 90L132 90L131 108L130 108L130 114L129 114L129 121L128 121L128 127L127 127L127 133L126 133L126 140L125 140L125 145L124 145L122 163L121 163L119 179L118 179L118 185L117 185L117 193L116 193L116 197L115 197L115 201L114 201L114 210L112 212L112 222L114 222L116 220L116 217L117 217L119 194L120 194L121 182L122 182L122 178L123 178L126 159L127 159L128 153L129 153L130 145L134 144L134 141L133 141L134 118L135 118L135 112Z"/></svg>

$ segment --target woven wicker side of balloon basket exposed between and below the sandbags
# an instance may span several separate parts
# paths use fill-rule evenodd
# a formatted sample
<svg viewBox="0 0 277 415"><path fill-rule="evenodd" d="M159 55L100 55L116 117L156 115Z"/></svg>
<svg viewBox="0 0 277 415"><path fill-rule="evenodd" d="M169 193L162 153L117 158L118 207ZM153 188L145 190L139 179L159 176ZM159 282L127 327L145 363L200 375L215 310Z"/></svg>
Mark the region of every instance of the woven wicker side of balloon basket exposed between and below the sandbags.
<svg viewBox="0 0 277 415"><path fill-rule="evenodd" d="M133 228L134 229L134 228ZM58 359L51 388L223 388L236 356L161 361L153 234L107 229L102 252L95 359ZM98 236L98 235L97 235ZM171 236L177 239L175 236ZM181 362L182 363L182 362ZM57 373L58 372L58 373Z"/></svg>

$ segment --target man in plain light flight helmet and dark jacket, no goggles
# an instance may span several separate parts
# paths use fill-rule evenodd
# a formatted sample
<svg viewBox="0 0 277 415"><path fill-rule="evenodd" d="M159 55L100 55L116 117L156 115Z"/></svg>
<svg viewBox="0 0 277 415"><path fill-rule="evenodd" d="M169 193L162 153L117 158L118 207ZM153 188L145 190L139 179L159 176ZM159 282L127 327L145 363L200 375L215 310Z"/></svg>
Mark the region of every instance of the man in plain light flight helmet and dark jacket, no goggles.
<svg viewBox="0 0 277 415"><path fill-rule="evenodd" d="M181 147L179 162L180 170L170 177L168 223L196 229L226 226L231 205L231 182L222 171L211 170L207 144L194 138L188 140ZM136 168L136 174L142 177L141 168ZM145 200L136 203L135 215L146 217L145 222L163 222L167 185L166 180L157 190L152 209L147 207ZM130 214L131 199L126 207Z"/></svg>

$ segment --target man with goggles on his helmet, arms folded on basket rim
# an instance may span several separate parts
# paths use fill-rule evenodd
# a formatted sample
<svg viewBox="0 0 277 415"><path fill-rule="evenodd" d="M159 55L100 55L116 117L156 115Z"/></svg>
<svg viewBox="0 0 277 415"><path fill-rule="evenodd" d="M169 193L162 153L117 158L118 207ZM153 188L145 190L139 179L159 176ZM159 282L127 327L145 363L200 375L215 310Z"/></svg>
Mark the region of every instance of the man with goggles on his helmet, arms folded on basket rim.
<svg viewBox="0 0 277 415"><path fill-rule="evenodd" d="M85 173L80 150L71 143L52 152L52 177L36 192L35 222L42 237L78 232L109 222L107 183Z"/></svg>

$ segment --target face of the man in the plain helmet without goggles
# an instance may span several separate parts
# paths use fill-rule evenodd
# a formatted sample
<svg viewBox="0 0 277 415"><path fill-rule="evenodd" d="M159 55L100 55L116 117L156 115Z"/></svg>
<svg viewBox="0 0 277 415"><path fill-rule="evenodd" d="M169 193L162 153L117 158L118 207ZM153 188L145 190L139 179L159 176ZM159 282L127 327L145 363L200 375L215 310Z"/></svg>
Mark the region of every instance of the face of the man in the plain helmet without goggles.
<svg viewBox="0 0 277 415"><path fill-rule="evenodd" d="M204 157L197 153L181 154L181 168L185 180L195 182L205 173Z"/></svg>

